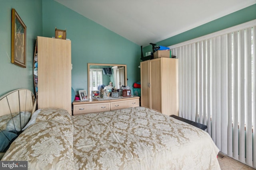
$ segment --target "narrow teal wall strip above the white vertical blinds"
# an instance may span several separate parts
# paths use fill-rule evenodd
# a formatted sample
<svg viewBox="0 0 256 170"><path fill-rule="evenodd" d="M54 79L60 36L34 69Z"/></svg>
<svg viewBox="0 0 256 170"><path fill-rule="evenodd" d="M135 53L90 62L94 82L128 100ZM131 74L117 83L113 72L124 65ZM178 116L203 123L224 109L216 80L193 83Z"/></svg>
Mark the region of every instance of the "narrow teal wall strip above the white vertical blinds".
<svg viewBox="0 0 256 170"><path fill-rule="evenodd" d="M226 29L228 27L232 27L247 21L256 19L256 4L219 18L217 20L213 20L204 25L200 25L199 27L190 29L184 33L180 33L168 39L159 42L153 42L156 45L162 46L170 46L178 43L182 43L184 41L188 41L190 39L194 39L197 37L201 37L203 35L207 35L210 33L214 33L216 31L220 31L222 29ZM151 42L152 43L152 42ZM143 48L143 52L152 51L152 46L149 45Z"/></svg>

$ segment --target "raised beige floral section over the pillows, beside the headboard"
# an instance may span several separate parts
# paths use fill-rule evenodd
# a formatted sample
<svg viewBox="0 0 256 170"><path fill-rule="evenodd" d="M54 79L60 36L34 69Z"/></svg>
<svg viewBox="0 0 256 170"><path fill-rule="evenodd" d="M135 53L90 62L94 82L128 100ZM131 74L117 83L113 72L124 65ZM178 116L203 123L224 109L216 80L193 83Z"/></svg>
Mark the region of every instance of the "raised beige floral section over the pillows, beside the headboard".
<svg viewBox="0 0 256 170"><path fill-rule="evenodd" d="M27 160L29 170L73 170L71 116L64 109L42 109L31 125L12 143L2 160Z"/></svg>

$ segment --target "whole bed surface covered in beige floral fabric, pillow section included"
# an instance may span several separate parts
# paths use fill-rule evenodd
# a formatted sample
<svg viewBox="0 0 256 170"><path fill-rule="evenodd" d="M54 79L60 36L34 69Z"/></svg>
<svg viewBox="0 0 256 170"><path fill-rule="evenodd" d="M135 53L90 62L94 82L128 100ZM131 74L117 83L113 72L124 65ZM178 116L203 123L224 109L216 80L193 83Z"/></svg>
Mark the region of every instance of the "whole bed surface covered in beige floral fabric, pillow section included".
<svg viewBox="0 0 256 170"><path fill-rule="evenodd" d="M208 133L145 107L38 109L25 127L2 160L27 160L28 169L220 169Z"/></svg>

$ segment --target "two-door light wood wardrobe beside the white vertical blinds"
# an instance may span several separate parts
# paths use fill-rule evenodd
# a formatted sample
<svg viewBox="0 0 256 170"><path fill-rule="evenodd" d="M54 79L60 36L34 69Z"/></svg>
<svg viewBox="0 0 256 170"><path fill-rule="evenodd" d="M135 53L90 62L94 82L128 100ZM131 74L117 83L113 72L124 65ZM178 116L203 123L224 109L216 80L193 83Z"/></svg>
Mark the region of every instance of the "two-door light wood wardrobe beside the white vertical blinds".
<svg viewBox="0 0 256 170"><path fill-rule="evenodd" d="M178 59L158 58L140 63L141 106L178 115Z"/></svg>

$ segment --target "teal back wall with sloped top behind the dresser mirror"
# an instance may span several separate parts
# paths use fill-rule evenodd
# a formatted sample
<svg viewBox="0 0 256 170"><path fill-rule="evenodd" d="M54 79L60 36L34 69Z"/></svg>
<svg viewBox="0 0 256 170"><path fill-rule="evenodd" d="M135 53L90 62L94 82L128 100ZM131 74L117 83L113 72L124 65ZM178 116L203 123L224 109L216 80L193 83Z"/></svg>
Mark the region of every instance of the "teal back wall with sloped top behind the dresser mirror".
<svg viewBox="0 0 256 170"><path fill-rule="evenodd" d="M43 36L66 29L71 40L72 87L87 89L87 63L127 64L128 85L140 80L140 46L102 27L54 0L44 0Z"/></svg>

